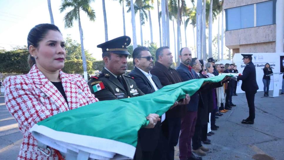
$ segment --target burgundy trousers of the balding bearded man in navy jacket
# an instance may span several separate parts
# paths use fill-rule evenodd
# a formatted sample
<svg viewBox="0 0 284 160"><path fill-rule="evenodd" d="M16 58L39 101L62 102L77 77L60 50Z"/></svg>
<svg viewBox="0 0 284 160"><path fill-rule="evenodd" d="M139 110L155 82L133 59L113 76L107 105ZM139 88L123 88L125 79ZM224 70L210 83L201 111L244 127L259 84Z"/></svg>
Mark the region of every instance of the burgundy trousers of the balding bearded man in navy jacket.
<svg viewBox="0 0 284 160"><path fill-rule="evenodd" d="M181 118L181 133L179 136L179 159L187 160L191 156L191 138L194 135L194 129L197 119L197 111L186 111Z"/></svg>

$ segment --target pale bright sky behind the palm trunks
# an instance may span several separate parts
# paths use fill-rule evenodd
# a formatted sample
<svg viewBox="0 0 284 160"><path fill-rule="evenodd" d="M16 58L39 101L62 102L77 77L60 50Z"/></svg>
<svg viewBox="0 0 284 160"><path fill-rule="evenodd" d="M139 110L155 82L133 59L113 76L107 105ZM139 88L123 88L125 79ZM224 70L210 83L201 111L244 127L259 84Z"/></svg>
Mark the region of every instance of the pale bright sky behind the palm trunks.
<svg viewBox="0 0 284 160"><path fill-rule="evenodd" d="M123 36L123 20L122 20L122 6L118 1L105 0L106 3L106 14L108 23L108 39L114 39L118 36ZM186 1L188 6L191 6L189 0ZM78 29L78 22L74 22L74 26L69 29L64 28L63 18L69 9L64 13L59 12L61 0L51 0L51 7L54 16L54 23L61 30L63 37L70 35L72 39L80 42L80 35ZM96 46L105 41L104 37L104 24L103 24L103 10L102 1L95 0L91 4L92 8L96 12L96 20L91 22L83 12L81 13L81 24L84 35L84 48L93 53L96 59L101 58L101 49ZM158 26L158 10L157 3L153 4L154 10L151 10L151 18L153 25L153 41L159 46L159 26ZM125 9L125 20L126 20L126 35L132 38L132 26L131 26L131 13L126 13ZM161 10L161 7L160 7ZM50 23L49 11L47 6L47 0L1 0L0 1L0 48L10 50L12 47L17 45L27 45L27 35L32 27L41 23ZM143 29L143 40L150 41L150 29L149 23L146 22L142 27ZM170 21L170 39L171 49L174 52L174 39L173 39L173 22ZM176 22L175 22L176 32ZM192 26L188 25L186 30L188 46L193 47L193 30ZM213 24L213 37L218 32L218 20L214 21ZM182 35L182 47L185 46L184 41L184 26L181 26ZM137 43L141 44L140 40L140 23L139 17L136 15L136 36Z"/></svg>

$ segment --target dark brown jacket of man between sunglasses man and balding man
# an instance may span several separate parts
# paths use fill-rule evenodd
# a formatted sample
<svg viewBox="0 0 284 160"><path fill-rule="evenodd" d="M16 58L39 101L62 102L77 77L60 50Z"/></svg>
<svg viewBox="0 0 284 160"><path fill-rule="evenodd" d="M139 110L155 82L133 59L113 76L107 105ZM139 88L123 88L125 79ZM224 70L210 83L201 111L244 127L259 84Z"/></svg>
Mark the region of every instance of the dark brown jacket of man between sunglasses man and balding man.
<svg viewBox="0 0 284 160"><path fill-rule="evenodd" d="M175 69L166 68L163 64L155 62L155 66L151 69L151 74L158 77L163 86L182 82L181 77ZM181 117L181 112L184 110L184 105L176 106L166 112L167 118Z"/></svg>

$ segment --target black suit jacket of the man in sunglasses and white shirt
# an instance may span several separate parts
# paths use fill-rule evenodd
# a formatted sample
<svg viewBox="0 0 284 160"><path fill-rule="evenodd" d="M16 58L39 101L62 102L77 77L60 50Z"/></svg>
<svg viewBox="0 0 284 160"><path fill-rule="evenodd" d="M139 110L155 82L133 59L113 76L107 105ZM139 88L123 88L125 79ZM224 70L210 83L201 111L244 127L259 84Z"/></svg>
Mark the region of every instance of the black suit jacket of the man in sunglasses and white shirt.
<svg viewBox="0 0 284 160"><path fill-rule="evenodd" d="M137 67L134 67L134 69L128 74L128 76L134 77L134 81L136 82L138 88L140 88L144 94L155 92L155 89L153 88L151 82ZM152 75L152 80L154 81L158 89L161 89L163 87L158 77ZM142 151L155 151L160 139L160 132L161 121L158 121L153 129L141 128L139 130L138 138L140 139Z"/></svg>

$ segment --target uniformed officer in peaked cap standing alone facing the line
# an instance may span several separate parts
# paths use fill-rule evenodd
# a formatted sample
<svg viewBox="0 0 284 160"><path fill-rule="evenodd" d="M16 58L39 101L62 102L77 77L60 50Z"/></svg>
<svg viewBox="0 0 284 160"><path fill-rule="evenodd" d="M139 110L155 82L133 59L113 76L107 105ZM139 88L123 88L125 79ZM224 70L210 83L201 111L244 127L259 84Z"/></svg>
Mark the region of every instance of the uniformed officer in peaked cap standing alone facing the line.
<svg viewBox="0 0 284 160"><path fill-rule="evenodd" d="M243 74L238 76L237 80L242 80L241 89L245 91L245 96L248 101L249 116L247 119L243 119L243 124L253 124L255 119L255 108L254 108L254 96L258 90L256 83L255 65L251 61L252 54L242 54L243 62L246 65L243 70Z"/></svg>

